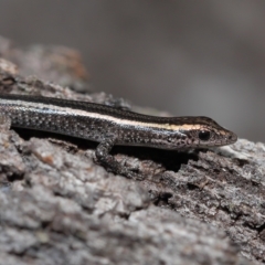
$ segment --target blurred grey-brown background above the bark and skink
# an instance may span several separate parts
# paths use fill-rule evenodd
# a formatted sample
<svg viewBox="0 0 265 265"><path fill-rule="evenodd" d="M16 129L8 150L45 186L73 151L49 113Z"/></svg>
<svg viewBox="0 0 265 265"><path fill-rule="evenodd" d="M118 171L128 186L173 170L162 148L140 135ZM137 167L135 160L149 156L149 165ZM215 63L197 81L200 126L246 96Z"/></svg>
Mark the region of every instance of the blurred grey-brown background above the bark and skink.
<svg viewBox="0 0 265 265"><path fill-rule="evenodd" d="M93 88L265 142L264 0L6 0L0 35L78 50Z"/></svg>

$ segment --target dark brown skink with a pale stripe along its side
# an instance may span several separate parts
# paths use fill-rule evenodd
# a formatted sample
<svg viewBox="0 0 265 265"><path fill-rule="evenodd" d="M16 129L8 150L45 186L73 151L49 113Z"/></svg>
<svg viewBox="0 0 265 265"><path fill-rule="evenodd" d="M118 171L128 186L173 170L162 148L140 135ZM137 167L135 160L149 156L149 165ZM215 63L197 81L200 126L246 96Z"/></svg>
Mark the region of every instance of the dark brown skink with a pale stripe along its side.
<svg viewBox="0 0 265 265"><path fill-rule="evenodd" d="M96 158L107 170L141 179L109 152L115 145L161 149L233 144L237 136L208 117L156 117L95 103L0 94L0 116L13 127L52 131L99 142Z"/></svg>

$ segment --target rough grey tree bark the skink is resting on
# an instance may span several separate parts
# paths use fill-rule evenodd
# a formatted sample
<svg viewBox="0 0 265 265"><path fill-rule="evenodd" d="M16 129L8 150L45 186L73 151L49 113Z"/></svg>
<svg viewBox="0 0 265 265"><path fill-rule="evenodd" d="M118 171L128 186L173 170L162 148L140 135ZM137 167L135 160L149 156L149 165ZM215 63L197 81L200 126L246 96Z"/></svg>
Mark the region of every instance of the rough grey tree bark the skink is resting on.
<svg viewBox="0 0 265 265"><path fill-rule="evenodd" d="M84 93L70 49L20 50L2 38L0 56L0 93L128 107ZM265 264L264 144L114 148L146 174L137 182L95 163L94 142L0 121L0 264Z"/></svg>

